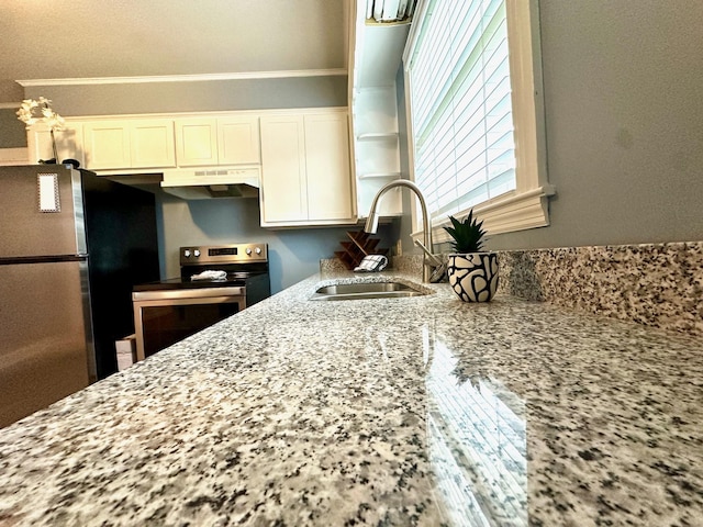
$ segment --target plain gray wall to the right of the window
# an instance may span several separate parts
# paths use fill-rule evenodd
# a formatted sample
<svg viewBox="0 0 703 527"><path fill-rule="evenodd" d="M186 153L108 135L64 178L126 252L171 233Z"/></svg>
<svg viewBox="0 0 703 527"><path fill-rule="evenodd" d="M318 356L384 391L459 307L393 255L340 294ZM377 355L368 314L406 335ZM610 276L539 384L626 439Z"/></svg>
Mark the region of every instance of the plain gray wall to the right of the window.
<svg viewBox="0 0 703 527"><path fill-rule="evenodd" d="M539 5L551 225L489 248L703 240L703 2Z"/></svg>

